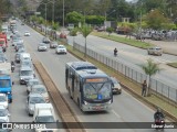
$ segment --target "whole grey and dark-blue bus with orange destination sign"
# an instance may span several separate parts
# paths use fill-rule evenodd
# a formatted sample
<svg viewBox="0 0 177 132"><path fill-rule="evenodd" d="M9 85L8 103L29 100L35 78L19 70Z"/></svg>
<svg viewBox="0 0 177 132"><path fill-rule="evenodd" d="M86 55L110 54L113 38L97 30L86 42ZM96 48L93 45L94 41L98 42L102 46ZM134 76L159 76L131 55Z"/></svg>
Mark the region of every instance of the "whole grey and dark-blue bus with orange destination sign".
<svg viewBox="0 0 177 132"><path fill-rule="evenodd" d="M113 102L110 76L88 62L65 65L65 85L82 111L106 111Z"/></svg>

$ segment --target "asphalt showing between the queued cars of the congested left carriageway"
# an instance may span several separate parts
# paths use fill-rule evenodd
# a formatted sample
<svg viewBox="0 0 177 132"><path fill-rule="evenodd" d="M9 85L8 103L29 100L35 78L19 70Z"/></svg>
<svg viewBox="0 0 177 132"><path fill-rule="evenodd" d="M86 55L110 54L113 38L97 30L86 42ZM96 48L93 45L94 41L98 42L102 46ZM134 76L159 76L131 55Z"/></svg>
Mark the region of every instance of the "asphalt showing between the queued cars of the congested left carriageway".
<svg viewBox="0 0 177 132"><path fill-rule="evenodd" d="M6 56L8 58L8 62L14 61L14 47L11 46L11 41L9 41L9 47L6 52ZM15 64L15 70L11 74L12 80L14 81L14 85L12 87L12 97L13 102L9 105L9 112L10 112L10 122L21 122L21 123L31 123L32 117L28 116L25 105L27 105L27 87L25 85L19 84L19 69L20 64ZM38 73L35 72L37 77L40 79ZM56 113L56 112L55 112ZM59 116L56 114L56 119L61 121ZM33 130L12 130L12 132L33 132ZM65 132L64 130L60 130L60 132Z"/></svg>

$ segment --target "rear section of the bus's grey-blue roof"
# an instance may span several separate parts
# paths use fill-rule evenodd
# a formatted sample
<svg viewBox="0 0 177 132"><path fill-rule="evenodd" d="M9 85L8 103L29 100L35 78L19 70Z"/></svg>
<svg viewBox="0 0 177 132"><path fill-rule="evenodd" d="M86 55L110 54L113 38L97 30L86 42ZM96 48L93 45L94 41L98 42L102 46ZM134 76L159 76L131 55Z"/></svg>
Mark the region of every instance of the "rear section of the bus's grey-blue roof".
<svg viewBox="0 0 177 132"><path fill-rule="evenodd" d="M97 69L95 65L88 62L71 62L71 63L67 63L67 65L73 67L75 70Z"/></svg>

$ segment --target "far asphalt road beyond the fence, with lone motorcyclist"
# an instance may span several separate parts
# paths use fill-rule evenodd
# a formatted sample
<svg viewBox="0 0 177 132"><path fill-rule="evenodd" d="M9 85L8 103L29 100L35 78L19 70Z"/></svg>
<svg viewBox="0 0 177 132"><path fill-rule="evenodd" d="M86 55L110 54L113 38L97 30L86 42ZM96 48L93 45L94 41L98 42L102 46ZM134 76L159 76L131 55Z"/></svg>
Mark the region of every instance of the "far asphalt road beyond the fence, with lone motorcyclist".
<svg viewBox="0 0 177 132"><path fill-rule="evenodd" d="M69 36L67 38L69 43L73 44L73 36ZM75 36L74 41L75 43L83 46L85 44L85 40L82 35ZM177 56L168 54L163 54L163 56L147 55L146 50L133 47L126 44L101 38L93 35L87 36L87 48L104 54L105 56L113 57L113 50L115 47L117 47L118 50L118 57L116 57L115 59L138 72L143 73L138 65L145 63L148 58L152 58L155 63L160 64L159 66L160 68L163 68L163 70L159 74L155 75L153 78L156 78L157 80L160 80L162 82L176 88L177 70L176 68L167 66L166 63L176 62Z"/></svg>

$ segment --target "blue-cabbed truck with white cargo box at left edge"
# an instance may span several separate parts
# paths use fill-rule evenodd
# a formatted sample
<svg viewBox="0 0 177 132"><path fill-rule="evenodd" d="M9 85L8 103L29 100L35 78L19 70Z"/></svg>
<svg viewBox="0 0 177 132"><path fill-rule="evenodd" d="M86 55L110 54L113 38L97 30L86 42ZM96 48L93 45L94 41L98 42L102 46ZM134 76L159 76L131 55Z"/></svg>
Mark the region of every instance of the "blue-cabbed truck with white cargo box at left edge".
<svg viewBox="0 0 177 132"><path fill-rule="evenodd" d="M11 64L0 63L0 92L8 96L8 101L12 102Z"/></svg>

